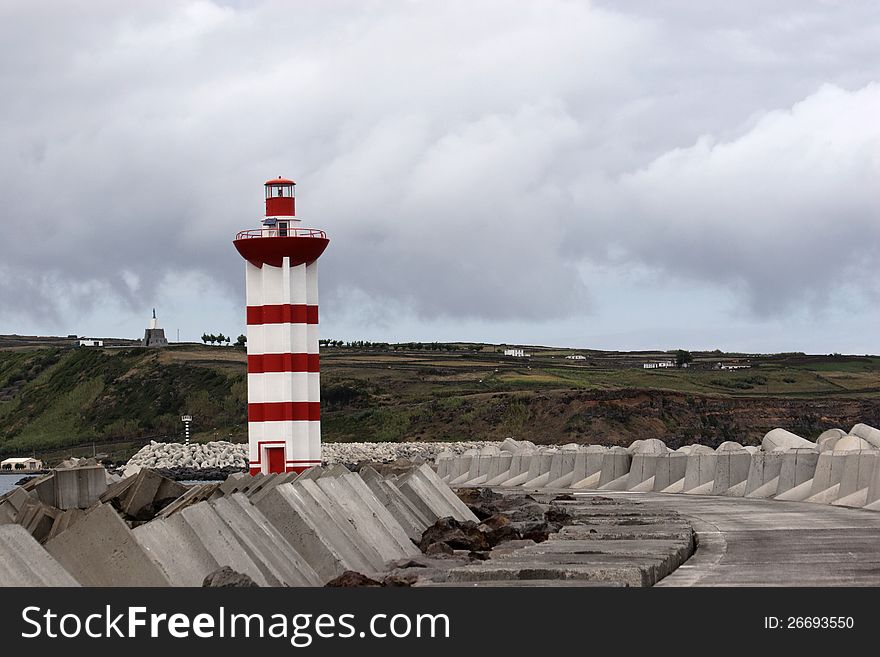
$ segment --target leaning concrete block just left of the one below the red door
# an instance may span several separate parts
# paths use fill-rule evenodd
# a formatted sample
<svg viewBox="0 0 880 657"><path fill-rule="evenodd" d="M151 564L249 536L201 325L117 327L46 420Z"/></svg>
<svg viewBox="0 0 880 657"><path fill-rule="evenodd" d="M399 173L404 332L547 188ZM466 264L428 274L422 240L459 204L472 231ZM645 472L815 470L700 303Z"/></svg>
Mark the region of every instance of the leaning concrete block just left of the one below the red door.
<svg viewBox="0 0 880 657"><path fill-rule="evenodd" d="M250 503L244 493L210 502L263 572L266 580L279 586L318 586L318 574L283 536Z"/></svg>

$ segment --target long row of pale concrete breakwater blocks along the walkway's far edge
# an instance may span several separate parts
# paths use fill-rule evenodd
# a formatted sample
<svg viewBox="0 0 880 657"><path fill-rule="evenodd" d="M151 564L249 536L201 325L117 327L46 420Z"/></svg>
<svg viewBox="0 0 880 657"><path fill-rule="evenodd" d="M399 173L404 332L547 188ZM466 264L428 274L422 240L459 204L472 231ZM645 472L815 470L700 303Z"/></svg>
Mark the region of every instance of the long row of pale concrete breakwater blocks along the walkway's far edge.
<svg viewBox="0 0 880 657"><path fill-rule="evenodd" d="M673 451L657 439L628 448L508 439L440 454L436 468L454 487L725 495L880 510L880 430L865 424L829 429L815 442L773 429L760 447L726 442L715 450Z"/></svg>

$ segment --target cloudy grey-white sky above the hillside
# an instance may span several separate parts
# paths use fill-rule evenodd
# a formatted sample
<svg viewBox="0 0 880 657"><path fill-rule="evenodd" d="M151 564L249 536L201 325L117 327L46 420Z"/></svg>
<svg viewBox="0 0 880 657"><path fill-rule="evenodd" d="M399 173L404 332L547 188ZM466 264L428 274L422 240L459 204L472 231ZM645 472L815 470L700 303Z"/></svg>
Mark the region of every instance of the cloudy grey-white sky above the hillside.
<svg viewBox="0 0 880 657"><path fill-rule="evenodd" d="M880 5L0 2L0 333L880 353Z"/></svg>

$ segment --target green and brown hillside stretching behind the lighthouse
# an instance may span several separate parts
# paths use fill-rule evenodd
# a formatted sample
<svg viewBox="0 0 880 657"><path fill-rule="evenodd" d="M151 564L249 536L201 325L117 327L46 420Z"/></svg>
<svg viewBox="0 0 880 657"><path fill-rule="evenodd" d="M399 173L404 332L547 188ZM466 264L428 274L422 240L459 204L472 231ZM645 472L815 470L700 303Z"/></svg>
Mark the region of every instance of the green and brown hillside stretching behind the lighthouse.
<svg viewBox="0 0 880 657"><path fill-rule="evenodd" d="M526 438L536 443L754 443L784 426L880 424L880 358L694 354L689 369L646 370L666 353L494 345L333 346L322 352L325 440ZM578 353L583 360L565 356ZM748 365L719 370L717 363ZM0 453L96 445L124 455L179 439L244 440L243 349L16 346L0 350Z"/></svg>

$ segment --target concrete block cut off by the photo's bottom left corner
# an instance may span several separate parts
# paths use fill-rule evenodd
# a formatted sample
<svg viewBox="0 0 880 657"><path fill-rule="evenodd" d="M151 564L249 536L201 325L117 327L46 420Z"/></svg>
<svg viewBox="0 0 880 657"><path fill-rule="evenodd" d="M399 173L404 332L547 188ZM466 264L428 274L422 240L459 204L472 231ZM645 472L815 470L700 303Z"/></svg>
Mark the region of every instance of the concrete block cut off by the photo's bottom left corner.
<svg viewBox="0 0 880 657"><path fill-rule="evenodd" d="M0 526L0 586L79 586L21 525Z"/></svg>

